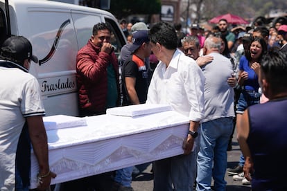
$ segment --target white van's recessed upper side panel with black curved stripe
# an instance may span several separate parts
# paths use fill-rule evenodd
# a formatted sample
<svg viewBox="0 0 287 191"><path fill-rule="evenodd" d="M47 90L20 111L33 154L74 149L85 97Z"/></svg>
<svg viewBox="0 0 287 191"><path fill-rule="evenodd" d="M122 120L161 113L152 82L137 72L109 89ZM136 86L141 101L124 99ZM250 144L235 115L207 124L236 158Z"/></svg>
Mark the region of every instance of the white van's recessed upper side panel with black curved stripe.
<svg viewBox="0 0 287 191"><path fill-rule="evenodd" d="M33 44L33 53L39 59L35 74L40 77L49 73L60 75L61 72L76 71L78 44L69 10L30 8L28 19L29 39Z"/></svg>

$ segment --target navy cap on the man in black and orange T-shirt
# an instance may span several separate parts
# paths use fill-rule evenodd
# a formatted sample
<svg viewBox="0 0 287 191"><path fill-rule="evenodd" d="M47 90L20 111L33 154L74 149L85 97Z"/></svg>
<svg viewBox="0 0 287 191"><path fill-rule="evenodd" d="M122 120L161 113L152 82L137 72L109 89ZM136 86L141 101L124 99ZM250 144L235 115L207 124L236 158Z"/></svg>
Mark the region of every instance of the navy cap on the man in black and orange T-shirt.
<svg viewBox="0 0 287 191"><path fill-rule="evenodd" d="M132 33L132 46L130 46L130 51L132 53L136 51L143 42L150 42L150 39L148 38L148 30L134 31L134 33Z"/></svg>

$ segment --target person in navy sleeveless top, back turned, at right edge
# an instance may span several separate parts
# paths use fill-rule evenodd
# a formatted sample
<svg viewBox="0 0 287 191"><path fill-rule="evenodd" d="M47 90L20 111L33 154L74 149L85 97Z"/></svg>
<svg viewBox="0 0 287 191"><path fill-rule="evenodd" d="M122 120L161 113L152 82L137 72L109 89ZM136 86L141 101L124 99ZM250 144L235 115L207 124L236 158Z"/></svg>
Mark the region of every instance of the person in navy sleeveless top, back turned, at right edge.
<svg viewBox="0 0 287 191"><path fill-rule="evenodd" d="M287 54L276 48L263 57L259 82L269 101L245 110L238 125L244 176L252 181L252 190L287 190L286 60Z"/></svg>

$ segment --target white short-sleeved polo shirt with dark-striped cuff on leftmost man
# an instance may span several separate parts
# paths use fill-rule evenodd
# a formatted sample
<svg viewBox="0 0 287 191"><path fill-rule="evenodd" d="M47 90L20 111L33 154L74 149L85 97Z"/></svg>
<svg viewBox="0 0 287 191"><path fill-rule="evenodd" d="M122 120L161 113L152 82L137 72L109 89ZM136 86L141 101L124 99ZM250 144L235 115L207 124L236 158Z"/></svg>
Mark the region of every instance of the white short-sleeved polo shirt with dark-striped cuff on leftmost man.
<svg viewBox="0 0 287 191"><path fill-rule="evenodd" d="M15 155L26 117L44 115L33 75L0 66L0 190L15 188Z"/></svg>

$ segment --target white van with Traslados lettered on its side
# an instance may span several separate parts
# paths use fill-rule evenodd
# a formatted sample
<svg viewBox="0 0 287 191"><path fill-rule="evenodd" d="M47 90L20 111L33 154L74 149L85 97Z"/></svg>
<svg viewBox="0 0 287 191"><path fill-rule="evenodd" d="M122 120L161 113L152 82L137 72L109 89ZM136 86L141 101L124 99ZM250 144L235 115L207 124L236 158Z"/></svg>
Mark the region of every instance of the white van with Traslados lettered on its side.
<svg viewBox="0 0 287 191"><path fill-rule="evenodd" d="M31 64L30 73L39 81L46 116L78 116L76 54L99 22L110 24L119 54L126 41L116 18L104 10L44 0L9 0L7 17L6 1L0 0L0 44L9 23L12 35L28 38L39 59L39 64Z"/></svg>

